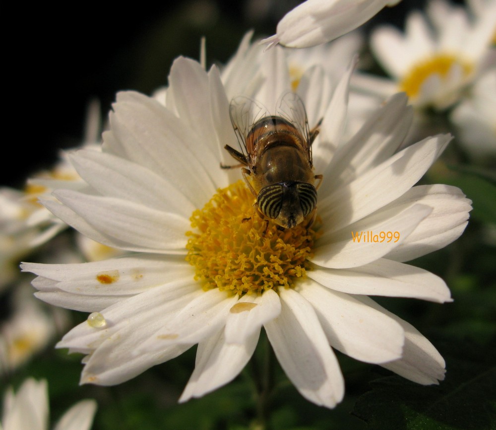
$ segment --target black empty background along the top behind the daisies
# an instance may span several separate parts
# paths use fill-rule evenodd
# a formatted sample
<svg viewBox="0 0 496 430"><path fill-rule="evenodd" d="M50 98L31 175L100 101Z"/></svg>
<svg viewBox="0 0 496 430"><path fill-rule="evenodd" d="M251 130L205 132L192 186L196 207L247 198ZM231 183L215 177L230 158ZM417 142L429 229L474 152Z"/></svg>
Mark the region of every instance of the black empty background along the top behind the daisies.
<svg viewBox="0 0 496 430"><path fill-rule="evenodd" d="M255 2L266 8L250 6ZM208 65L225 62L248 29L256 36L273 34L277 21L297 3L141 1L131 8L117 2L62 7L17 2L3 7L5 21L13 23L13 29L4 26L3 37L3 144L12 152L4 155L0 184L22 187L28 175L53 165L59 149L79 145L92 98L100 100L106 117L117 91L149 94L167 83L174 58L198 59L201 36L206 36ZM403 0L385 8L365 30L379 22L402 26L407 11L424 3Z"/></svg>

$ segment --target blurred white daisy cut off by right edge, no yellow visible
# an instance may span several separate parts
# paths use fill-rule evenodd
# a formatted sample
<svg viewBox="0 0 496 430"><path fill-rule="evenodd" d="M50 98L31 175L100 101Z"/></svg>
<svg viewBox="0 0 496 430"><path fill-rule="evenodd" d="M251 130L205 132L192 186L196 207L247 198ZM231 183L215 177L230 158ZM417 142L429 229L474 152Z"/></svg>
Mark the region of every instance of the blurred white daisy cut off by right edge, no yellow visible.
<svg viewBox="0 0 496 430"><path fill-rule="evenodd" d="M481 76L450 114L457 138L477 161L496 159L496 70Z"/></svg>

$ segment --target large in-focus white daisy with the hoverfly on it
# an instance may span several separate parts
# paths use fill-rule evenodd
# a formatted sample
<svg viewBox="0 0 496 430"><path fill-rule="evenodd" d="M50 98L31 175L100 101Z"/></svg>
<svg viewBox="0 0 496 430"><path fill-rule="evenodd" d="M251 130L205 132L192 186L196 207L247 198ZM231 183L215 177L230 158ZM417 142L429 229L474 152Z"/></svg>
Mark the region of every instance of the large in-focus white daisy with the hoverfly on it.
<svg viewBox="0 0 496 430"><path fill-rule="evenodd" d="M281 48L264 55L264 78L245 88L272 111L291 78ZM220 168L236 164L223 147L237 141L216 67L206 72L177 59L165 106L136 92L118 94L102 151L71 155L87 187L57 190L58 202L44 204L129 255L23 265L38 275L37 297L91 312L58 344L86 355L81 383L118 384L198 344L180 401L200 397L240 373L262 326L289 379L317 405L332 408L343 397L333 348L422 384L443 378L432 344L367 296L450 301L440 278L403 261L455 240L470 201L454 187L414 186L451 137L395 153L412 119L404 95L352 139L341 139L352 69L332 93L321 91L325 76L317 73L297 88L310 127L322 120L312 150L323 180L308 230L267 225L239 169ZM361 231L398 238L360 242L353 235Z"/></svg>

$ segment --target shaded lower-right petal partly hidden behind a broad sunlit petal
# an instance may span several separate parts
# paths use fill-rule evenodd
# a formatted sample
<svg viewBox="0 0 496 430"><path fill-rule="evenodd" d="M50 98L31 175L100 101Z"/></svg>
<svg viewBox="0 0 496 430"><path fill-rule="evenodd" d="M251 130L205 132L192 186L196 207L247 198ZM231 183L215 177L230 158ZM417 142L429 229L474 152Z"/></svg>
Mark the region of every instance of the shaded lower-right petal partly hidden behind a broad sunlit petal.
<svg viewBox="0 0 496 430"><path fill-rule="evenodd" d="M382 367L423 385L438 384L438 381L444 379L444 359L431 342L411 324L388 312L369 297L362 296L359 299L396 320L405 330L403 357L381 364Z"/></svg>

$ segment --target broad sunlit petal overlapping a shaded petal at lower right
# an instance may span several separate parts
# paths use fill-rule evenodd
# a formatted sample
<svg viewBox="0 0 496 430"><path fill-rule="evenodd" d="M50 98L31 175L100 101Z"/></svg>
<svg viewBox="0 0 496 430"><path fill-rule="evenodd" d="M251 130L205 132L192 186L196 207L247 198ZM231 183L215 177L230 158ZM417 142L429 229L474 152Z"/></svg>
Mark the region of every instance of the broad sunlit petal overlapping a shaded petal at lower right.
<svg viewBox="0 0 496 430"><path fill-rule="evenodd" d="M396 321L348 294L312 281L299 285L333 348L369 363L401 358L404 332Z"/></svg>

